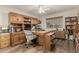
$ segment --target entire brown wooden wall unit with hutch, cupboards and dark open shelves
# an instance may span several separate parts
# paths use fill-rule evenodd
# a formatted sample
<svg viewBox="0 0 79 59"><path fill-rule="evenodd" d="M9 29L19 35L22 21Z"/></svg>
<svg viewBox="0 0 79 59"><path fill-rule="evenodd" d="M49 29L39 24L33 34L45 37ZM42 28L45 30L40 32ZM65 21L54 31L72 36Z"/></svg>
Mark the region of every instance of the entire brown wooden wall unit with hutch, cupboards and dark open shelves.
<svg viewBox="0 0 79 59"><path fill-rule="evenodd" d="M9 13L9 24L11 25L11 46L26 42L23 32L24 29L27 30L30 28L31 30L31 26L38 23L37 18L25 17L24 15L13 12Z"/></svg>

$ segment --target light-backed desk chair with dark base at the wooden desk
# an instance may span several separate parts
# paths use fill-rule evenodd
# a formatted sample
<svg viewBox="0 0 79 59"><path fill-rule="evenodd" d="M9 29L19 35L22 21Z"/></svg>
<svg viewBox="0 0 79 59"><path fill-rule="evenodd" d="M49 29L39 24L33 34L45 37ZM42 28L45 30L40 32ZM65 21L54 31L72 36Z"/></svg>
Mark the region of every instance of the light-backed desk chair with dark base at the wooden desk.
<svg viewBox="0 0 79 59"><path fill-rule="evenodd" d="M33 35L30 30L24 30L24 32L25 32L25 36L26 36L26 39L27 39L27 42L25 44L26 47L28 48L29 45L35 46L37 44L36 36Z"/></svg>

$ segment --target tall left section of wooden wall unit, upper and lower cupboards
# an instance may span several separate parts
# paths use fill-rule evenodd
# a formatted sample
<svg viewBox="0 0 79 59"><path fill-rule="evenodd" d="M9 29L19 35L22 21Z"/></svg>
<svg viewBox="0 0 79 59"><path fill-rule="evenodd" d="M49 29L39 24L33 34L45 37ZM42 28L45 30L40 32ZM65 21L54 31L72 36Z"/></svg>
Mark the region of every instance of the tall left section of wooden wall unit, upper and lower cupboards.
<svg viewBox="0 0 79 59"><path fill-rule="evenodd" d="M11 25L11 46L24 43L24 16L13 12L9 13L9 24Z"/></svg>

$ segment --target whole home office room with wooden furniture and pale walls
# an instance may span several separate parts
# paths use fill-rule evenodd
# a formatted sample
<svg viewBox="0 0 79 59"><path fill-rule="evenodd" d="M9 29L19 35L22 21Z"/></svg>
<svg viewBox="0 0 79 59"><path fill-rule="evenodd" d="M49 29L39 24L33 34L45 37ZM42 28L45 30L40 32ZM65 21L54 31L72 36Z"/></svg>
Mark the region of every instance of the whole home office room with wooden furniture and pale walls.
<svg viewBox="0 0 79 59"><path fill-rule="evenodd" d="M0 53L78 53L79 5L0 5Z"/></svg>

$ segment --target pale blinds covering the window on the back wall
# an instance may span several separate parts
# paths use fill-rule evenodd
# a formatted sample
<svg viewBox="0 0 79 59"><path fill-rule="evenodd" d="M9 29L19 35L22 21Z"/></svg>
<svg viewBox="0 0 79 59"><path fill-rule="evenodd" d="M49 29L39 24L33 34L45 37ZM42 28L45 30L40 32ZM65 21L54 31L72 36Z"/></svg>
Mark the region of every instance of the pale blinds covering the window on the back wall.
<svg viewBox="0 0 79 59"><path fill-rule="evenodd" d="M46 19L47 28L63 28L63 16Z"/></svg>

